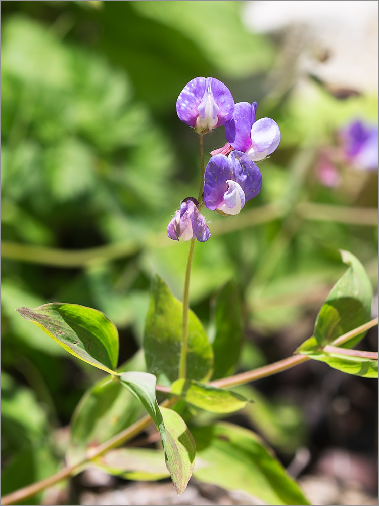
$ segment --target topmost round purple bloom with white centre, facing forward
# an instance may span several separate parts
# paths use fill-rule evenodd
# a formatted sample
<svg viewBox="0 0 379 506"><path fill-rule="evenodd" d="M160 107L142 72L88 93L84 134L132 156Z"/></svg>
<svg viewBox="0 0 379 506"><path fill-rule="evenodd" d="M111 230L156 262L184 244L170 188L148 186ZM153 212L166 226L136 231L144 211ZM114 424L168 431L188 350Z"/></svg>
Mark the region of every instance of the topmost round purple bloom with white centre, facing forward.
<svg viewBox="0 0 379 506"><path fill-rule="evenodd" d="M189 81L176 101L179 118L206 134L233 117L234 100L223 82L213 77L196 77Z"/></svg>

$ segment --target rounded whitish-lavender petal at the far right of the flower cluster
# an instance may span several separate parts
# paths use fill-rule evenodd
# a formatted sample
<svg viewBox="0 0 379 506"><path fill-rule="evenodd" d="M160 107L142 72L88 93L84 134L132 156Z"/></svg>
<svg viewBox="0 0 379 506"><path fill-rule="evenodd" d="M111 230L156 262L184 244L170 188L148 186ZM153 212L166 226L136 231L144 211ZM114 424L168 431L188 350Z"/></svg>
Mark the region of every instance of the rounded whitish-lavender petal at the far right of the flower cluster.
<svg viewBox="0 0 379 506"><path fill-rule="evenodd" d="M253 161L263 160L279 146L279 126L273 119L258 119L251 128L251 140L252 145L246 153Z"/></svg>

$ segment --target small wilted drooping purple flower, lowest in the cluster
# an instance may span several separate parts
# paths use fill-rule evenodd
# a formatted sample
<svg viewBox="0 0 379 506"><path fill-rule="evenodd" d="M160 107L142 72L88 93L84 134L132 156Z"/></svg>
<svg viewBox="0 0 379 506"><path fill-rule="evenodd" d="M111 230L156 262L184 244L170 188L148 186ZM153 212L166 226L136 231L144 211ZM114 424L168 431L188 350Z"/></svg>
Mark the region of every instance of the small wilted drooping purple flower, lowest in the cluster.
<svg viewBox="0 0 379 506"><path fill-rule="evenodd" d="M199 213L193 201L196 199L192 200L192 198L188 197L183 200L180 209L175 212L175 216L168 224L167 235L174 241L178 241L179 238L183 241L197 238L198 241L204 242L211 236L204 216Z"/></svg>

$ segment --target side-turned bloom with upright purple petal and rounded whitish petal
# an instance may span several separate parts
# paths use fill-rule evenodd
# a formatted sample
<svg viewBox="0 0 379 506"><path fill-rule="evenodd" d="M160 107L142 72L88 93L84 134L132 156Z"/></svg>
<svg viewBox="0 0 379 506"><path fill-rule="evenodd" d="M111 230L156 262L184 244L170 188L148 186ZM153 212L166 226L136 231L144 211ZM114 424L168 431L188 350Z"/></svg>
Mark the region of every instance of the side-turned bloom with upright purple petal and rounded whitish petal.
<svg viewBox="0 0 379 506"><path fill-rule="evenodd" d="M235 150L246 153L253 161L260 161L278 147L280 130L273 119L255 121L256 109L256 102L235 104L233 118L225 123L225 136Z"/></svg>

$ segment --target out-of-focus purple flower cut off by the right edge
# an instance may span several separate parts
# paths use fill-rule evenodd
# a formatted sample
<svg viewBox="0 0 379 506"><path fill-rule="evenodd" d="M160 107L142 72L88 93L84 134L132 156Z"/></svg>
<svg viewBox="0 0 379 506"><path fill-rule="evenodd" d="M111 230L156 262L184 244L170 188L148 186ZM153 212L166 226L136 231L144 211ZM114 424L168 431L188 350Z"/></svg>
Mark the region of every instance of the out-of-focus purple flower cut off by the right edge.
<svg viewBox="0 0 379 506"><path fill-rule="evenodd" d="M379 165L379 130L354 121L340 132L346 159L357 168L374 170Z"/></svg>

